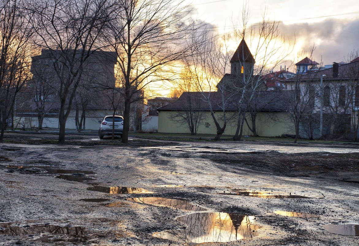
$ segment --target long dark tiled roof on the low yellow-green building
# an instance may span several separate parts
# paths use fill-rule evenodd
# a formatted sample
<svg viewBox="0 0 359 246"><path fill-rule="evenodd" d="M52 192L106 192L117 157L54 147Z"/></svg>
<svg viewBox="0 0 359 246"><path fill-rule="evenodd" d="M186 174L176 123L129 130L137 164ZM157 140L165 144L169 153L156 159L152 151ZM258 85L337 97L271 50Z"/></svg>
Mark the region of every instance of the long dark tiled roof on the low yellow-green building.
<svg viewBox="0 0 359 246"><path fill-rule="evenodd" d="M252 100L251 105L261 112L284 112L290 108L289 97L292 91L258 91ZM220 92L183 92L180 98L166 106L158 108L158 111L186 111L190 109L198 111L210 111L210 106L205 97L209 98L213 111L238 111L240 95L234 93ZM241 104L245 110L247 102Z"/></svg>

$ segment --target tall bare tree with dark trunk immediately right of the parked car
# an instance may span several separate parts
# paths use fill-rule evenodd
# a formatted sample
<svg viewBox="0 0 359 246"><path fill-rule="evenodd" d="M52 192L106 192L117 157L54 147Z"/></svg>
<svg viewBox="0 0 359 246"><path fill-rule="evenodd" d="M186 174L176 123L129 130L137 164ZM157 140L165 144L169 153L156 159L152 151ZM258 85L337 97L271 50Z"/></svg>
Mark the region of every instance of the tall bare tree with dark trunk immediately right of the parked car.
<svg viewBox="0 0 359 246"><path fill-rule="evenodd" d="M123 74L124 124L122 142L128 142L131 104L139 91L162 80L165 66L188 55L184 40L197 28L188 15L185 1L117 0L122 10L112 22L109 42L118 55L118 69ZM200 25L199 25L200 26Z"/></svg>

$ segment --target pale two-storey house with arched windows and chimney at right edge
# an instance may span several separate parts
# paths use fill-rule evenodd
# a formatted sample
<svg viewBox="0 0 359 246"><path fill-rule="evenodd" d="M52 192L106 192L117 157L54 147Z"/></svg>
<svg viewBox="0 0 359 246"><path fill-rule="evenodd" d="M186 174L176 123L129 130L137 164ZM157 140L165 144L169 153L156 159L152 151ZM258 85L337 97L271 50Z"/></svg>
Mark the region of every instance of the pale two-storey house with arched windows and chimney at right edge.
<svg viewBox="0 0 359 246"><path fill-rule="evenodd" d="M306 60L304 63L317 64ZM302 125L302 132L310 127L314 137L320 137L320 134L328 138L358 135L359 58L346 64L334 63L331 68L319 70L303 70L303 61L297 64L302 66L298 71L306 73L284 82L287 90L300 88L311 107L313 120ZM301 136L306 137L304 133Z"/></svg>

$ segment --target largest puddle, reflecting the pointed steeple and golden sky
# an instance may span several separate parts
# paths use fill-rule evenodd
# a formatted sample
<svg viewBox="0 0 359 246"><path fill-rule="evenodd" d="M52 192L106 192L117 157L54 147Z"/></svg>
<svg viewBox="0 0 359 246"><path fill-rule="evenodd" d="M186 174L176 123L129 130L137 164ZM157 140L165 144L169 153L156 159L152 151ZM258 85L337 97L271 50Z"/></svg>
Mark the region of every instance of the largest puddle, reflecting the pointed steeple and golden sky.
<svg viewBox="0 0 359 246"><path fill-rule="evenodd" d="M230 242L259 235L255 217L227 213L194 213L178 217L186 229L155 232L154 237L182 243Z"/></svg>

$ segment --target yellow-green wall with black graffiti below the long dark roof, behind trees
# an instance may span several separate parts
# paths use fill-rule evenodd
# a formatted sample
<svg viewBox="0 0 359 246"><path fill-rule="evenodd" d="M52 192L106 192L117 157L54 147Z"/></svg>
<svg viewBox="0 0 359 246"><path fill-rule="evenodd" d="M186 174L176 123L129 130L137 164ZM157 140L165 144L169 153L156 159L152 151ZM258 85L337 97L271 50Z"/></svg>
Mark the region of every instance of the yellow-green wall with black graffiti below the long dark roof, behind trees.
<svg viewBox="0 0 359 246"><path fill-rule="evenodd" d="M186 124L180 124L171 120L170 115L172 112L160 111L158 114L158 132L164 133L190 133ZM222 126L223 120L221 112L216 112L218 115L218 122ZM226 117L228 120L227 127L225 129L225 135L234 135L236 133L237 122L235 118L236 113L228 112ZM249 117L248 117L249 118ZM251 124L250 120L248 121ZM259 136L263 137L278 137L282 134L295 134L294 123L290 119L290 115L287 113L258 113L256 118L256 129ZM200 123L197 133L201 134L216 134L216 126L209 112L206 112L204 119ZM243 136L252 135L252 132L244 123Z"/></svg>

